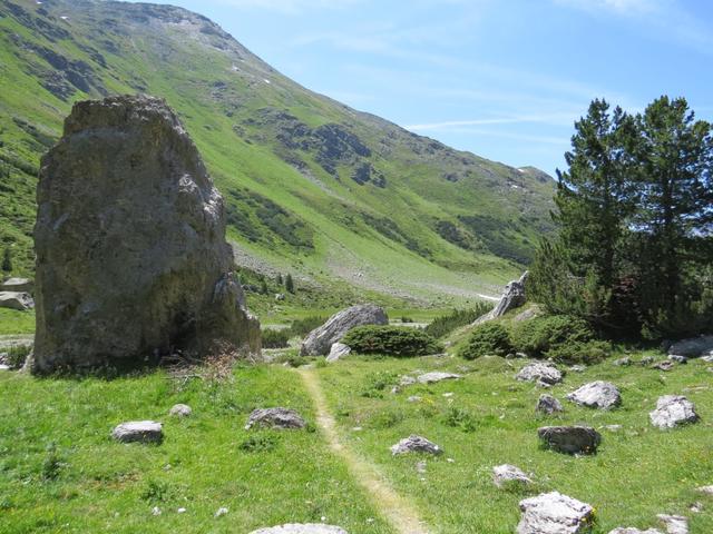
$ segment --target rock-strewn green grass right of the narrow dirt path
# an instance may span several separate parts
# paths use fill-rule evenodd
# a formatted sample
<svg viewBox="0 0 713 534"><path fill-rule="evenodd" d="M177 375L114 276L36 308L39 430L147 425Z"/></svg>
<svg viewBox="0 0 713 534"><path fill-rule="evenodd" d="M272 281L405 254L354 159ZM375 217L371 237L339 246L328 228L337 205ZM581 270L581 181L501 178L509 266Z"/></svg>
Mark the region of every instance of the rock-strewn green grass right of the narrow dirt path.
<svg viewBox="0 0 713 534"><path fill-rule="evenodd" d="M390 393L401 374L462 372L463 365L471 370L461 380ZM713 482L713 386L706 364L693 362L663 374L603 363L583 374L570 373L549 392L565 405L559 417L535 416L543 389L514 379L521 365L502 358L466 363L457 358L352 357L315 372L346 443L417 503L436 533L514 532L524 494L495 488L491 468L502 463L534 474L531 493L557 490L595 506L597 534L616 526L657 526L658 513L690 516L692 533L713 532L713 500L694 491ZM566 393L595 379L618 385L621 408L597 412L564 399ZM383 388L374 389L374 383L384 382ZM453 396L443 397L443 393ZM672 432L652 427L648 412L660 395L671 393L686 395L696 405L701 423ZM422 399L409 403L410 395ZM537 428L548 424L596 428L619 424L623 428L599 429L603 444L597 455L570 457L540 449ZM354 427L363 429L354 432ZM413 433L445 449L441 457L427 459L424 475L416 469L422 457L393 458L389 452L390 445ZM688 512L695 501L705 502L702 514Z"/></svg>

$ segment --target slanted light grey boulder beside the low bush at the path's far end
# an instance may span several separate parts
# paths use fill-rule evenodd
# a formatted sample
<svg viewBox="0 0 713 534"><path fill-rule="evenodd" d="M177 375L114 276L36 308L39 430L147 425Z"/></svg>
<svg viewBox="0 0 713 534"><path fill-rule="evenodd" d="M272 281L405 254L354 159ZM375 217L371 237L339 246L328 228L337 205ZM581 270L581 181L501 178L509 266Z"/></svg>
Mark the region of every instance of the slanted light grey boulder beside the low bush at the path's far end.
<svg viewBox="0 0 713 534"><path fill-rule="evenodd" d="M388 324L387 313L373 304L362 304L342 309L305 337L300 354L302 356L325 356L330 353L332 345L340 342L355 326Z"/></svg>

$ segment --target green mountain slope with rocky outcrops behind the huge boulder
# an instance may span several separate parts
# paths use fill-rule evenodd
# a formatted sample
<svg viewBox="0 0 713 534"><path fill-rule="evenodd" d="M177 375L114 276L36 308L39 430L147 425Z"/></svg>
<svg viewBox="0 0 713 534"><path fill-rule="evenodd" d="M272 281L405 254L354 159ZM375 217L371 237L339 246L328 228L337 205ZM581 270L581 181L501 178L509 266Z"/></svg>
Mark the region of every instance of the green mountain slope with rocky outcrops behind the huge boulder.
<svg viewBox="0 0 713 534"><path fill-rule="evenodd" d="M432 299L491 294L550 231L551 180L299 86L169 6L0 2L0 247L31 269L41 154L71 102L160 96L228 209L238 257L314 283Z"/></svg>

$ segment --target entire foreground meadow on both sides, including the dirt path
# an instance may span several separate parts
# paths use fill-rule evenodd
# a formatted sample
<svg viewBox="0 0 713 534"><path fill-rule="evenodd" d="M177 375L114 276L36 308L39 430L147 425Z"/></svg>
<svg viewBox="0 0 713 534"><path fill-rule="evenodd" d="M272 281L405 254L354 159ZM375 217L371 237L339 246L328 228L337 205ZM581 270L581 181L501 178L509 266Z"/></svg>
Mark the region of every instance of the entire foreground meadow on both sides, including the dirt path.
<svg viewBox="0 0 713 534"><path fill-rule="evenodd" d="M222 382L186 382L164 370L113 380L6 372L0 532L244 534L324 521L351 534L400 534L420 520L431 534L511 533L525 493L492 485L491 468L504 463L533 474L528 493L557 490L592 504L597 534L658 526L660 513L688 516L692 534L713 532L713 498L695 491L713 484L707 364L662 373L609 360L570 372L549 390L565 413L541 418L534 406L543 390L514 379L522 365L351 357L299 370L237 366ZM433 369L462 378L391 393L401 375ZM615 383L623 405L599 412L564 400L594 379ZM660 395L673 393L696 405L701 422L657 431L648 412ZM189 404L193 415L168 417L175 403ZM245 431L250 412L267 406L297 409L307 431ZM109 438L123 421L150 418L164 423L162 445ZM538 446L537 427L569 423L599 429L597 455L570 457ZM445 454L392 457L389 447L410 434L438 443ZM700 513L690 511L696 502ZM216 517L222 507L228 513Z"/></svg>

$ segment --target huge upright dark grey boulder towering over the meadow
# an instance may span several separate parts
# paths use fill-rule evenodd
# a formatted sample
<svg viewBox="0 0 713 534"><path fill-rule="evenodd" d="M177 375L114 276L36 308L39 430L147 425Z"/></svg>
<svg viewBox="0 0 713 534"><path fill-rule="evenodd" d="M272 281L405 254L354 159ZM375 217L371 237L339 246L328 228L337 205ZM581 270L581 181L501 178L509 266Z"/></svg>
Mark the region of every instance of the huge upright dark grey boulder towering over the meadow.
<svg viewBox="0 0 713 534"><path fill-rule="evenodd" d="M35 372L260 353L223 198L164 100L77 102L37 200Z"/></svg>

